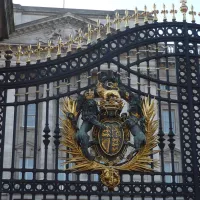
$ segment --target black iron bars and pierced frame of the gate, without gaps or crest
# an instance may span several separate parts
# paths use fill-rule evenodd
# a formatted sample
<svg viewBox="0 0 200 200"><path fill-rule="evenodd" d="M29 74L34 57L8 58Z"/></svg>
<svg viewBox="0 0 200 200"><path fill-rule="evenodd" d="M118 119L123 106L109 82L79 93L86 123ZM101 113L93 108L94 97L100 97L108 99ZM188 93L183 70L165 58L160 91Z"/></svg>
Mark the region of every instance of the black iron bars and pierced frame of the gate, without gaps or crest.
<svg viewBox="0 0 200 200"><path fill-rule="evenodd" d="M170 31L169 31L170 30ZM150 34L152 33L152 35ZM44 195L44 199L46 199L47 194L55 195L57 199L58 195L76 195L79 198L80 195L85 195L88 199L92 198L90 196L97 195L97 199L101 198L104 195L108 195L110 198L120 196L122 199L125 196L129 196L132 199L135 196L141 196L142 199L145 197L152 197L152 199L156 199L161 197L163 199L167 199L167 197L172 197L176 199L178 196L184 197L187 200L199 200L200 199L200 147L198 145L200 133L198 132L199 127L199 119L195 115L199 113L200 110L200 73L199 73L199 58L200 54L198 53L198 44L200 44L200 25L195 23L187 23L183 22L163 22L158 23L154 22L153 24L145 23L142 26L136 25L134 28L128 28L125 31L118 31L116 34L109 34L106 39L98 40L98 42L94 45L88 45L87 49L80 50L74 54L68 54L65 57L58 56L55 60L48 59L47 62L44 63L36 63L30 64L27 63L26 66L17 65L16 67L11 67L11 59L12 59L12 51L6 51L6 65L5 68L0 69L0 76L3 77L1 79L0 85L0 193L8 193L10 195L10 199L14 194L20 194L21 198L24 199L25 194L33 195L33 199L35 199L36 195ZM125 42L124 42L125 41ZM175 51L169 53L165 48L165 52L162 55L158 53L158 44L163 43L164 46L167 46L168 42L174 43ZM179 45L182 43L182 47ZM113 45L114 44L114 45ZM135 65L139 65L141 62L149 63L150 60L155 59L157 62L160 58L164 58L166 60L166 68L169 69L168 59L169 57L175 57L176 59L176 74L177 74L177 83L172 83L169 80L169 74L167 81L162 81L159 79L159 70L157 69L157 78L150 76L150 70L147 70L147 74L141 74L139 70L134 71L131 69L131 64L128 63L127 66L124 66L119 61L119 56L123 53L127 53L129 56L129 51L131 49L137 49L139 51L139 47L141 46L149 46L150 44L155 44L157 47L156 55L150 56L147 52L147 57L140 60L137 55L137 61ZM190 46L192 44L192 47ZM83 62L83 58L85 58L86 62ZM117 59L114 59L117 58ZM194 61L194 62L193 62ZM73 63L73 64L72 64ZM75 63L75 64L74 64ZM55 100L57 102L57 120L55 124L54 130L54 145L56 154L58 154L58 149L60 145L60 128L58 121L58 112L59 112L59 99L65 96L70 96L75 93L80 94L81 91L86 89L90 89L94 86L94 84L90 84L88 80L88 85L86 87L81 88L80 84L78 84L78 88L73 91L68 91L67 93L59 94L59 88L57 88L57 95L50 96L49 94L49 85L52 82L59 82L63 79L70 79L73 76L79 76L81 73L89 71L100 66L103 63L113 63L118 66L119 69L126 71L129 76L133 74L138 77L138 79L147 80L148 86L150 86L150 82L154 82L160 88L160 85L166 85L168 87L174 86L177 88L177 97L178 99L171 99L170 94L168 93L167 98L161 97L160 92L158 91L158 95L151 94L150 87L148 87L148 92L142 92L140 86L138 89L134 89L131 87L131 82L128 80L127 84L123 84L124 87L131 90L134 93L137 93L141 96L150 96L151 98L155 98L158 101L158 107L161 108L161 102L165 101L168 103L169 108L171 103L177 103L179 109L179 118L180 118L180 136L181 136L181 156L182 156L182 172L177 173L174 169L174 164L172 164L172 172L166 173L164 172L164 158L163 151L165 147L165 137L162 130L162 122L159 119L159 148L161 151L161 172L154 172L150 174L152 177L151 183L145 183L142 178L141 182L137 183L133 180L133 175L139 174L142 177L144 175L149 175L148 173L138 173L138 172L129 172L131 179L129 183L122 182L119 186L118 191L104 191L101 183L94 183L89 179L88 182L79 181L58 181L58 180L47 180L47 173L53 172L58 174L61 172L58 170L58 165L56 164L56 169L48 170L47 169L47 153L48 153L48 145L50 143L49 134L49 119L46 117L46 124L44 127L44 146L45 146L45 166L44 169L37 169L36 165L31 170L25 169L25 165L23 164L22 169L16 169L12 164L11 168L3 167L4 160L4 145L5 145L5 125L6 125L6 108L13 106L14 107L14 134L16 136L16 117L17 117L17 107L20 105L25 106L25 116L27 116L27 106L28 104L36 104L36 119L38 117L38 104L41 102L46 102L46 116L49 115L49 101ZM62 68L65 66L65 68ZM54 67L56 69L55 72L52 72L51 69ZM100 67L99 67L100 69ZM35 74L33 78L31 76ZM168 70L167 70L168 73ZM14 76L14 79L11 78ZM23 78L22 78L23 77ZM39 86L42 84L46 84L47 94L46 97L40 98L38 94L36 94L35 100L28 100L28 95L25 95L24 102L18 102L17 95L15 95L15 101L10 103L7 102L7 93L10 89L15 89L15 94L18 93L18 89L26 88L26 93L28 93L28 89L31 86L35 86L37 90ZM68 86L70 88L70 86ZM184 97L184 98L183 98ZM161 116L161 109L159 109L159 115ZM186 117L187 116L187 117ZM171 118L171 117L169 117ZM171 121L171 119L169 119ZM186 123L187 121L187 123ZM27 119L25 120L27 123ZM36 120L36 127L37 127ZM25 128L26 129L26 128ZM172 163L174 163L174 149L175 149L175 139L174 133L172 132L172 127L170 127L170 132L168 134L169 141L169 149L171 153ZM24 131L26 132L26 130ZM14 138L15 140L15 138ZM24 134L24 140L26 140L26 134ZM25 144L24 144L25 145ZM14 148L14 147L13 147ZM25 150L25 149L24 149ZM14 152L14 150L13 150ZM189 155L188 155L189 154ZM34 155L36 156L36 155ZM58 158L58 157L57 157ZM12 158L14 159L14 158ZM25 157L23 157L25 159ZM12 162L13 163L13 162ZM192 172L193 169L193 172ZM22 172L22 180L15 180L13 177L14 172L20 171ZM25 172L33 172L34 179L32 181L25 180L24 173ZM3 173L10 172L11 179L3 179ZM36 180L35 174L36 172L44 173L44 180ZM68 172L66 172L67 174ZM79 174L79 173L77 173ZM90 177L92 172L87 172ZM125 173L127 174L127 173ZM162 177L161 183L156 183L154 181L154 176L160 175ZM166 175L172 176L173 182L171 184L165 183L164 177ZM175 176L180 175L183 177L183 183L175 183ZM123 174L121 173L121 178ZM15 188L15 184L20 185L20 189ZM31 189L27 189L27 184L31 186ZM37 185L40 184L42 190L37 189ZM4 186L7 187L4 187ZM53 189L49 189L49 186L52 185ZM59 186L63 185L64 190L60 190ZM74 190L71 190L70 187L74 186ZM86 190L81 190L81 185L86 187ZM97 187L96 191L93 191L91 188L95 186ZM125 191L125 187L129 187L129 191ZM139 187L140 190L137 192L135 187ZM157 191L157 188L160 188L161 191ZM181 193L177 191L177 188L181 188ZM146 189L150 188L150 192ZM169 188L171 188L169 190ZM0 197L0 199L2 196Z"/></svg>

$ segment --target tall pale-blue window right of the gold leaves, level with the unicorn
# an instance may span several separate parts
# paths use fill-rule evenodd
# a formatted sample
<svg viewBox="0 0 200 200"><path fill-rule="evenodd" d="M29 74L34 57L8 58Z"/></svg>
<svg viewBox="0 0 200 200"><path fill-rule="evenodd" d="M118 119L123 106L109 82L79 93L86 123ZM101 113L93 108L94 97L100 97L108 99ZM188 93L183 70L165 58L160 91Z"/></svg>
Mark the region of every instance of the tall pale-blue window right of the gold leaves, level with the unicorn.
<svg viewBox="0 0 200 200"><path fill-rule="evenodd" d="M169 114L171 114L171 127L173 133L175 133L175 110L162 110L162 124L163 124L163 132L165 134L169 133L170 128L170 121L169 121Z"/></svg>

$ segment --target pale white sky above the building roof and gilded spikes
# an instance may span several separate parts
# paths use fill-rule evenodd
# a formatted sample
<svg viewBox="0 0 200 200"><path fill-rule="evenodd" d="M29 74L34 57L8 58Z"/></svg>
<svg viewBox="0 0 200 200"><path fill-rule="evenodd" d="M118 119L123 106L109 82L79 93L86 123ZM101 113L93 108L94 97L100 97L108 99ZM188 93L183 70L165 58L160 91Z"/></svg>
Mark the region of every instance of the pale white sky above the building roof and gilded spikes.
<svg viewBox="0 0 200 200"><path fill-rule="evenodd" d="M63 7L64 0L13 0L15 4L24 6L42 6L42 7ZM137 6L139 10L143 10L144 5L147 5L149 11L153 10L153 4L156 3L157 9L162 10L163 3L166 4L166 9L171 10L172 3L175 4L176 10L180 13L180 0L65 0L65 8L78 9L94 9L94 10L116 10L128 9L134 10ZM194 6L197 14L200 12L199 0L188 0L188 8ZM171 14L167 16L168 21L171 21ZM178 16L178 21L182 20L182 16ZM191 17L187 16L187 21L191 21ZM200 23L200 16L196 16L196 21Z"/></svg>

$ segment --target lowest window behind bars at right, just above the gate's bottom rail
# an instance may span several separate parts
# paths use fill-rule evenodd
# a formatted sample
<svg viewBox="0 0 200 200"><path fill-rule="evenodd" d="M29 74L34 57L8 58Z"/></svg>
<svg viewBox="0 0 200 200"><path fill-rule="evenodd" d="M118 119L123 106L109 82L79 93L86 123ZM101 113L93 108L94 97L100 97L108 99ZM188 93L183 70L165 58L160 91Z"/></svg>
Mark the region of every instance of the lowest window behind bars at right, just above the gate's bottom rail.
<svg viewBox="0 0 200 200"><path fill-rule="evenodd" d="M165 162L164 164L164 170L165 172L172 172L172 163L171 162ZM175 172L180 172L179 169L179 163L178 162L174 162L174 171ZM172 183L173 179L171 175L165 175L165 182L166 183ZM180 183L180 179L179 176L175 176L175 183Z"/></svg>

